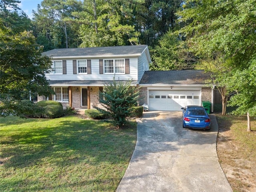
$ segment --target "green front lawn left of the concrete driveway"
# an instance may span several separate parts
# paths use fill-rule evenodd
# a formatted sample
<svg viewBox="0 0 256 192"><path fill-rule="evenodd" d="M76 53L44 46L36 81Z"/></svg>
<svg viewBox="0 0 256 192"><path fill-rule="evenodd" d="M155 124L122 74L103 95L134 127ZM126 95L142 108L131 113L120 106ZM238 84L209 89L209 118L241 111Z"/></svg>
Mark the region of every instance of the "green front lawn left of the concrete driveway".
<svg viewBox="0 0 256 192"><path fill-rule="evenodd" d="M0 118L0 191L115 191L135 144L136 123Z"/></svg>

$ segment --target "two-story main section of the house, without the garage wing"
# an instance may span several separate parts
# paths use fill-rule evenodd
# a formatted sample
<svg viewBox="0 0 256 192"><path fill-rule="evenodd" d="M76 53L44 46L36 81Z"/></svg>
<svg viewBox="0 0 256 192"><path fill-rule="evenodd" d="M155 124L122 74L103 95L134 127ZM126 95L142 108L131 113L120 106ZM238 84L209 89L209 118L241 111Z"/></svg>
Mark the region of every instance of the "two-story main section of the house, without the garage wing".
<svg viewBox="0 0 256 192"><path fill-rule="evenodd" d="M146 45L54 49L43 54L52 59L53 70L46 78L56 94L49 99L74 108L98 106L99 91L113 78L132 80L137 86L151 62Z"/></svg>

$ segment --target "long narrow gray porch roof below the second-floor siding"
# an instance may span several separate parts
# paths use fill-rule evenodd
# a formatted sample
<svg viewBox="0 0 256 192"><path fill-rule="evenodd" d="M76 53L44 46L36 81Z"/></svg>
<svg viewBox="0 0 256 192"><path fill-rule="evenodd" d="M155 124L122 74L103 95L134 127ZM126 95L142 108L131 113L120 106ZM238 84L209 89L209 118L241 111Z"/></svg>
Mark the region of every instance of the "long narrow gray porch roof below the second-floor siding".
<svg viewBox="0 0 256 192"><path fill-rule="evenodd" d="M119 80L117 80L119 81ZM120 80L121 82L127 82ZM49 80L50 86L104 86L113 82L112 80ZM132 80L131 85L136 85L137 81Z"/></svg>

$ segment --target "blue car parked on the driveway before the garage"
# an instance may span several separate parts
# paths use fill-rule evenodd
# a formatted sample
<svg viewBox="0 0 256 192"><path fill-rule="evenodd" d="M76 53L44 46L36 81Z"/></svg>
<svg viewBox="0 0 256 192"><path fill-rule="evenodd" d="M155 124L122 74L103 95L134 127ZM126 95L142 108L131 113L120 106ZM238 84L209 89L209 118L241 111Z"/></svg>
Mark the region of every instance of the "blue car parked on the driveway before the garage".
<svg viewBox="0 0 256 192"><path fill-rule="evenodd" d="M189 105L181 109L183 128L203 130L209 130L211 128L211 120L204 107Z"/></svg>

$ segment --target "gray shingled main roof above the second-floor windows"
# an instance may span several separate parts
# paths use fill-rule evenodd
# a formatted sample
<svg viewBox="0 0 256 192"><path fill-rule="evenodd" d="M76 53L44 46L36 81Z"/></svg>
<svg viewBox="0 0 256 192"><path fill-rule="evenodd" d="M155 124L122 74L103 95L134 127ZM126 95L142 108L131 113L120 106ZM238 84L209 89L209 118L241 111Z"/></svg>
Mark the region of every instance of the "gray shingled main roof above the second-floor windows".
<svg viewBox="0 0 256 192"><path fill-rule="evenodd" d="M49 57L76 57L76 56L111 56L141 54L147 45L112 46L112 47L86 47L53 49L42 54Z"/></svg>

